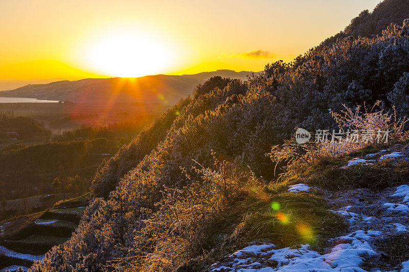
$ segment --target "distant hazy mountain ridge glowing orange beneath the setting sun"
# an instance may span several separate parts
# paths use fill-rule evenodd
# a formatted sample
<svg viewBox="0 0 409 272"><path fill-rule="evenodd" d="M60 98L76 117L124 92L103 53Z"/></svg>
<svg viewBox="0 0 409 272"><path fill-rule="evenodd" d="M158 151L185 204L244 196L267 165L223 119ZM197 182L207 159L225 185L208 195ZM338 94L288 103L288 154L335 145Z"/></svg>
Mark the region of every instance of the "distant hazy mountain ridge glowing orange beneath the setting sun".
<svg viewBox="0 0 409 272"><path fill-rule="evenodd" d="M172 105L211 77L245 80L251 71L216 70L194 75L154 75L140 78L99 78L29 84L1 91L0 96L29 97L74 103L161 103ZM258 73L258 72L255 72Z"/></svg>

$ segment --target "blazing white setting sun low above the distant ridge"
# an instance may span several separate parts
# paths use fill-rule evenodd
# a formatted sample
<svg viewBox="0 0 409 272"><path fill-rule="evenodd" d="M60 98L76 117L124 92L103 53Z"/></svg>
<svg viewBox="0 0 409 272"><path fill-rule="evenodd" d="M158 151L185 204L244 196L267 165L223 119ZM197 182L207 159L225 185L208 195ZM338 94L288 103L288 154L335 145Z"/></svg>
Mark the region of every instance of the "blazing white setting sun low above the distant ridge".
<svg viewBox="0 0 409 272"><path fill-rule="evenodd" d="M98 71L115 77L140 77L163 71L171 62L164 42L134 33L111 34L93 42L88 59Z"/></svg>

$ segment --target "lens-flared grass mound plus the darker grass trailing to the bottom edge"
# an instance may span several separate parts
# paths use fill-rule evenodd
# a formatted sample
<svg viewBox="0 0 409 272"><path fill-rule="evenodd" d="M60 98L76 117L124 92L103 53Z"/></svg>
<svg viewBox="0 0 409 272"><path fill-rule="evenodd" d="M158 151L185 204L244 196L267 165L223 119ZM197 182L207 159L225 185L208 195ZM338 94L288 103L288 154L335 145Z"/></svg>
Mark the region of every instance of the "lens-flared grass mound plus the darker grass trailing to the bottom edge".
<svg viewBox="0 0 409 272"><path fill-rule="evenodd" d="M277 190L286 188L276 184ZM272 242L279 248L309 243L316 249L328 237L335 237L347 226L337 214L327 210L321 197L308 193L274 193L265 189L222 211L214 218L213 230L202 245L202 255L180 265L177 272L207 271L223 256L248 245L248 242Z"/></svg>

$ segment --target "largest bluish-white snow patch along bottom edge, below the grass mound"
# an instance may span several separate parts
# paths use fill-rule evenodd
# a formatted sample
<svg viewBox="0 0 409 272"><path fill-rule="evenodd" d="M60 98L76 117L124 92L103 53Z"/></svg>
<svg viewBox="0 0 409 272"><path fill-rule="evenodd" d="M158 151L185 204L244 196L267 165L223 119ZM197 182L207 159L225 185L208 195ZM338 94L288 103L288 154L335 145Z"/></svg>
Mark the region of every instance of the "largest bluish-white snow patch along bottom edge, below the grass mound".
<svg viewBox="0 0 409 272"><path fill-rule="evenodd" d="M298 249L283 248L277 250L274 249L273 244L252 245L230 255L229 258L233 259L231 263L213 268L211 271L220 271L221 269L240 272L363 271L359 268L364 260L361 256L376 254L369 242L380 234L379 231L358 230L347 236L338 237L339 244L335 245L330 253L324 255L310 250L308 244L301 245ZM270 248L273 249L269 250ZM256 256L262 256L264 260L268 258L268 261L276 261L277 265L261 268L260 262L249 257L249 252Z"/></svg>

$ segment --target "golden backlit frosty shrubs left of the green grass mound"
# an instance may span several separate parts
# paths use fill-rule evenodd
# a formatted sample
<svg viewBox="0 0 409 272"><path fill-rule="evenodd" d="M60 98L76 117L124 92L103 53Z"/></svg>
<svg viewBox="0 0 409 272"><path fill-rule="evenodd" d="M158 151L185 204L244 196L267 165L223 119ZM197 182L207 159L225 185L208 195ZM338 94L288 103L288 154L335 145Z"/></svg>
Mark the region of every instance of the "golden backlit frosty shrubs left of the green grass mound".
<svg viewBox="0 0 409 272"><path fill-rule="evenodd" d="M144 210L149 217L135 236L127 258L115 264L121 271L174 271L203 251L221 244L220 233L230 228L226 211L259 184L253 173L234 163L217 161L214 169L199 164L200 180L184 189L167 188L158 210ZM183 171L191 179L186 171Z"/></svg>

